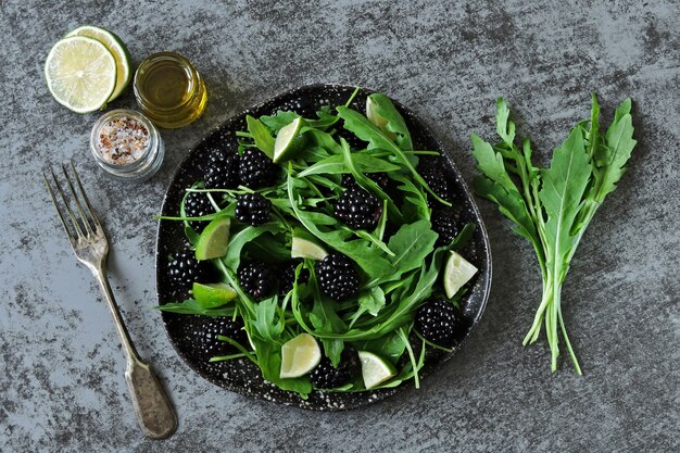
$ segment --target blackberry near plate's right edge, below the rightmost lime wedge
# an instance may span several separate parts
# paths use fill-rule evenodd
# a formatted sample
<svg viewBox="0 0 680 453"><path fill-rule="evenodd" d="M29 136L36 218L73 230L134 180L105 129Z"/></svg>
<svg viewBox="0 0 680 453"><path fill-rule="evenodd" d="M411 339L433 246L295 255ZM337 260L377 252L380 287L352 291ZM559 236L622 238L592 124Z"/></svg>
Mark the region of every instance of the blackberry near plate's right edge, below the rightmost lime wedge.
<svg viewBox="0 0 680 453"><path fill-rule="evenodd" d="M459 310L442 299L430 300L420 305L414 325L423 338L442 348L453 348L463 334L464 326Z"/></svg>

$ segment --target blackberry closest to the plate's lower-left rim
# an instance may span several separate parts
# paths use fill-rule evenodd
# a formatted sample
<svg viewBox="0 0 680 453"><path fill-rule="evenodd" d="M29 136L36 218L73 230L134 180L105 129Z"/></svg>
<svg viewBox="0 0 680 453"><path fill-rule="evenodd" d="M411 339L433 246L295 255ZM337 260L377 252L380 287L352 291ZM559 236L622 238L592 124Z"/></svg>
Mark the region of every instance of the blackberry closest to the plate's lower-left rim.
<svg viewBox="0 0 680 453"><path fill-rule="evenodd" d="M217 339L222 335L229 337L239 344L248 344L248 337L243 330L241 318L231 319L224 316L196 316L196 325L192 326L194 347L198 347L201 358L209 361L217 355L228 355L238 352L236 347Z"/></svg>

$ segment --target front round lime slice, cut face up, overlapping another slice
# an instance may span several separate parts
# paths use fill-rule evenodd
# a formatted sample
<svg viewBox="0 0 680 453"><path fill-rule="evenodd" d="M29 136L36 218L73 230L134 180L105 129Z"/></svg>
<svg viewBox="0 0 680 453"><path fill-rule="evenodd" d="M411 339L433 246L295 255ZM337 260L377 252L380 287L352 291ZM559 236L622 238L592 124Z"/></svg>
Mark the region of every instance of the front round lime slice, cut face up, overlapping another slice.
<svg viewBox="0 0 680 453"><path fill-rule="evenodd" d="M64 38L47 55L45 77L56 102L77 113L93 112L115 88L116 61L96 39Z"/></svg>

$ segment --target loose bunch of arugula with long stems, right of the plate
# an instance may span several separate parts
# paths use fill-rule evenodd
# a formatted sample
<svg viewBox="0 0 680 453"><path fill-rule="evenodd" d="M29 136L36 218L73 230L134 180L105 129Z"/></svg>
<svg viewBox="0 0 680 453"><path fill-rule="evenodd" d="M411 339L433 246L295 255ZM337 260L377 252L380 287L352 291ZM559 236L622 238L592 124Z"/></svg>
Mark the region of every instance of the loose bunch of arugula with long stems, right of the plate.
<svg viewBox="0 0 680 453"><path fill-rule="evenodd" d="M581 375L562 314L562 287L585 228L626 172L635 146L630 109L631 101L626 99L603 134L600 105L593 93L590 119L571 129L553 152L547 168L532 164L530 140L516 137L515 124L508 121L509 110L503 99L496 104L496 133L501 141L491 144L477 135L471 137L473 154L482 174L476 179L477 193L496 203L501 213L515 224L513 231L529 240L536 251L543 277L543 298L524 344L536 342L544 326L553 372L557 368L562 332L574 367Z"/></svg>

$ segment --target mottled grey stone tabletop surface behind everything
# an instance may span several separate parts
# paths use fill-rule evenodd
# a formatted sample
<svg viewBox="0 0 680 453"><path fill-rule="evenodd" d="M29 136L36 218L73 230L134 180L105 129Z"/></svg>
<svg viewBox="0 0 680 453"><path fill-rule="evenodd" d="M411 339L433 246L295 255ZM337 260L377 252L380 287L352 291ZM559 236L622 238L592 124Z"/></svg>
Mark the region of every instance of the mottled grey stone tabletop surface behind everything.
<svg viewBox="0 0 680 453"><path fill-rule="evenodd" d="M0 1L0 451L678 451L680 8L671 1L317 2ZM503 3L504 5L500 5ZM161 50L205 76L204 116L167 130L150 181L106 179L88 155L97 114L49 95L51 45L81 24L111 28L135 63ZM584 376L549 369L520 341L540 299L527 243L480 202L492 241L487 313L464 351L420 391L348 413L312 413L214 387L175 355L154 304L159 211L173 169L225 118L310 83L382 90L431 123L464 177L468 137L491 137L504 96L546 155L589 114L630 96L639 147L584 237L564 312ZM131 93L113 103L135 106ZM76 265L38 178L73 158L113 242L110 276L142 356L160 369L180 426L141 435L124 357L89 273Z"/></svg>

